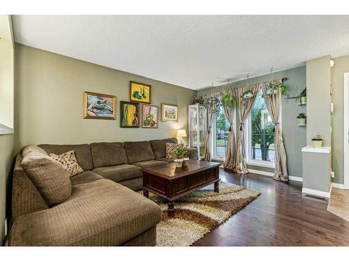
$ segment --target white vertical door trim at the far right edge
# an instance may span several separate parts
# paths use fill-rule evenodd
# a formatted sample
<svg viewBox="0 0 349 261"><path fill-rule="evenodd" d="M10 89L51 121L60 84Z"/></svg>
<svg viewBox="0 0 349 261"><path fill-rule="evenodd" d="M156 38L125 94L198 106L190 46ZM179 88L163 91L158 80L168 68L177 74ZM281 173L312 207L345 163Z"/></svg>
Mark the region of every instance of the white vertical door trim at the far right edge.
<svg viewBox="0 0 349 261"><path fill-rule="evenodd" d="M349 189L349 72L343 74L343 161L344 161L344 187Z"/></svg>

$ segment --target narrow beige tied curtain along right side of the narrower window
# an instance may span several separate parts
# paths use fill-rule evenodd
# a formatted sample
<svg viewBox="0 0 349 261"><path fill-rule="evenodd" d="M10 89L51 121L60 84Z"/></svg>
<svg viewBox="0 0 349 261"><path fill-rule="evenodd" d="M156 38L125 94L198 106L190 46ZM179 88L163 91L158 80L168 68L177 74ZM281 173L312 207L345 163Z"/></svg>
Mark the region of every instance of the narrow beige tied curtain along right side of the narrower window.
<svg viewBox="0 0 349 261"><path fill-rule="evenodd" d="M232 108L231 106L224 106L224 114L225 118L229 122L229 132L228 132L228 147L225 152L225 161L223 162L223 167L234 171L235 166L235 132L234 132L234 126L232 123L234 122L234 110L235 108Z"/></svg>

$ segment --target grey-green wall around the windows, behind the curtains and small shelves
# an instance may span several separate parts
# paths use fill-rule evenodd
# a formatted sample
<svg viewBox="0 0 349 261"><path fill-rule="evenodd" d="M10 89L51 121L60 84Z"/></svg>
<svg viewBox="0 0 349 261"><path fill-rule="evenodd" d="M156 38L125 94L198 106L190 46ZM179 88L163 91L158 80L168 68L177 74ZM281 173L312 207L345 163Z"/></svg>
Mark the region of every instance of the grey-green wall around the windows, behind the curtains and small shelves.
<svg viewBox="0 0 349 261"><path fill-rule="evenodd" d="M258 84L264 81L269 81L274 78L287 77L285 81L287 87L285 97L298 95L306 86L306 67L300 66L289 70L283 70L281 72L275 72L273 76L271 74L263 75L260 77L254 77L248 80L237 81L235 86L241 87L246 84ZM199 90L198 95L204 95L211 91L224 90L225 86L217 86L214 88L207 88L205 90ZM285 143L285 150L288 156L288 171L289 175L302 177L302 147L306 145L306 128L297 126L297 115L300 112L305 112L305 107L297 106L295 100L283 99L281 105L282 111L282 129L283 140ZM237 122L237 125L239 122ZM254 168L261 171L271 171L271 168L260 168L257 166L248 166L248 168Z"/></svg>

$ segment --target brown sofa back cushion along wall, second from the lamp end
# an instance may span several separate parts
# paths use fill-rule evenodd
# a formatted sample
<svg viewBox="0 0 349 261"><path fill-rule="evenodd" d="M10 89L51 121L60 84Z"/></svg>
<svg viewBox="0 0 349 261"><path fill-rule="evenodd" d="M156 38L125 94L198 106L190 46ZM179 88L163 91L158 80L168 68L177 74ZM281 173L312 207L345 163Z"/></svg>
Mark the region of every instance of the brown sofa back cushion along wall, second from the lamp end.
<svg viewBox="0 0 349 261"><path fill-rule="evenodd" d="M127 141L124 144L128 164L154 159L153 150L151 150L149 141Z"/></svg>

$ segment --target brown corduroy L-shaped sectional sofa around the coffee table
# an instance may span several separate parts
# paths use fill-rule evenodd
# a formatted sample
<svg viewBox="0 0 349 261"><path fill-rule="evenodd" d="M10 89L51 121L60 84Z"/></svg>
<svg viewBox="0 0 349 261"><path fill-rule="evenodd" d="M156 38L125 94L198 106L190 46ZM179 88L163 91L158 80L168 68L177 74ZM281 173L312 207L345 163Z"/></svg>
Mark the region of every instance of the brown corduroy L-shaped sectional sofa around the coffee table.
<svg viewBox="0 0 349 261"><path fill-rule="evenodd" d="M167 142L177 139L38 145L45 155L74 150L84 170L70 177L70 198L53 206L22 168L22 151L13 173L10 246L154 246L161 209L135 191L142 188L141 168L171 161L165 159Z"/></svg>

